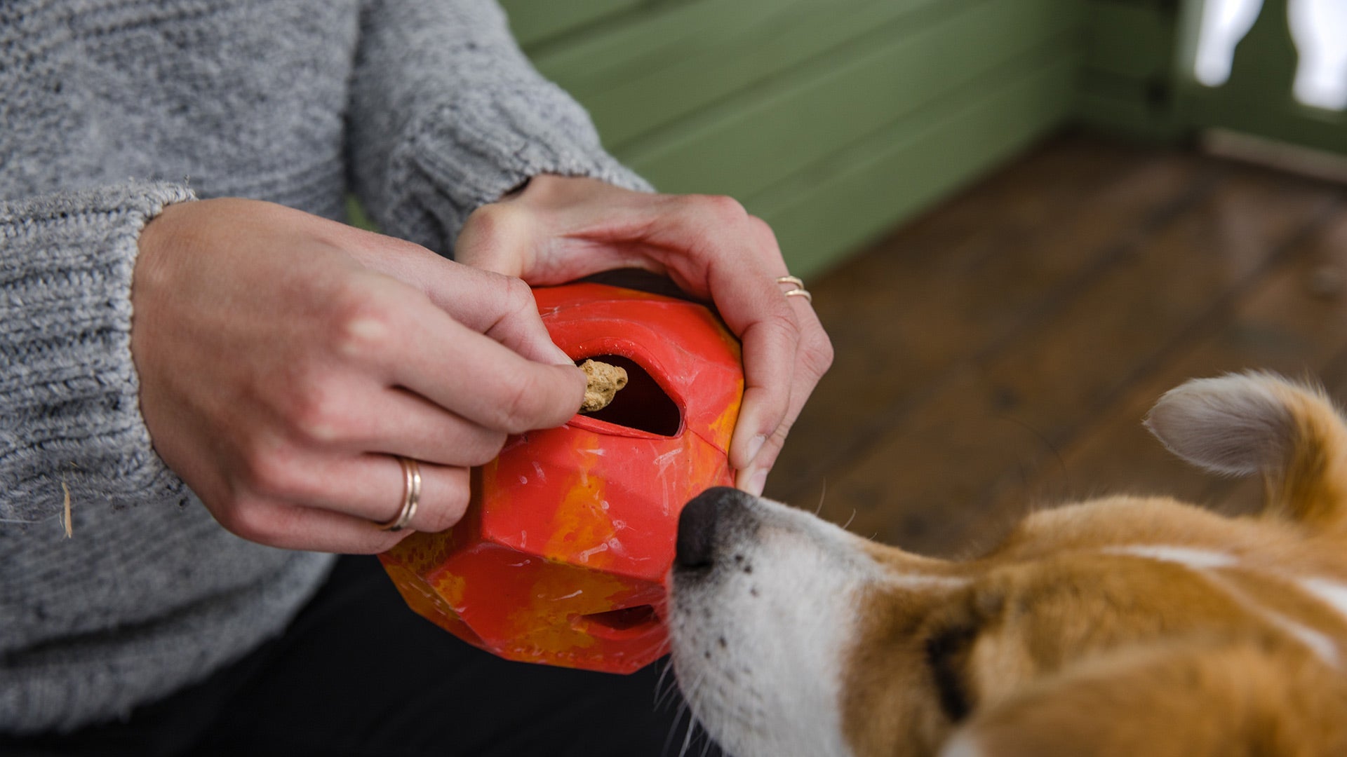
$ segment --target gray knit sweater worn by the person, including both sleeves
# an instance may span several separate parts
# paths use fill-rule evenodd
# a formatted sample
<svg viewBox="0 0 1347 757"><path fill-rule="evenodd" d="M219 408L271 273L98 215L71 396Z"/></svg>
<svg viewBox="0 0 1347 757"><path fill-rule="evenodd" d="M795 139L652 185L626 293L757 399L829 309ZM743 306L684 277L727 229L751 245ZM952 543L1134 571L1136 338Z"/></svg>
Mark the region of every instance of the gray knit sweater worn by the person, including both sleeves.
<svg viewBox="0 0 1347 757"><path fill-rule="evenodd" d="M232 536L155 455L129 352L144 224L194 195L341 218L356 191L447 255L540 172L644 186L485 0L0 3L0 731L205 676L331 560Z"/></svg>

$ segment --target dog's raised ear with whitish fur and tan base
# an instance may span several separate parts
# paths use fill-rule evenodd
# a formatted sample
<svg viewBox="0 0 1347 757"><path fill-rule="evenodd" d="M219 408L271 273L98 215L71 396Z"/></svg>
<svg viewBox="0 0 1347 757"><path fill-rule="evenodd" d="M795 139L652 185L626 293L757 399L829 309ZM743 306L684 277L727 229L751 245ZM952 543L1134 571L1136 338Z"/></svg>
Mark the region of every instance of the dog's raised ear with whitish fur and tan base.
<svg viewBox="0 0 1347 757"><path fill-rule="evenodd" d="M1347 428L1320 389L1270 373L1197 378L1161 397L1146 427L1207 470L1262 473L1269 506L1293 519L1347 520Z"/></svg>

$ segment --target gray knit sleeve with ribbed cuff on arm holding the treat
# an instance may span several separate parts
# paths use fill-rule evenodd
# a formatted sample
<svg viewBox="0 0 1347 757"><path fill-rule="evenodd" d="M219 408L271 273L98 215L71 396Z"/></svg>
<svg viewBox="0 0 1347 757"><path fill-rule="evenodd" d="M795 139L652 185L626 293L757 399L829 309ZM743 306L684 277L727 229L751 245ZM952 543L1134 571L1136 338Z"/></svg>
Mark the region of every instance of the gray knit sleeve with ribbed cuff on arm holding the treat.
<svg viewBox="0 0 1347 757"><path fill-rule="evenodd" d="M0 201L0 521L71 500L182 501L154 453L131 360L140 229L191 193L127 182Z"/></svg>

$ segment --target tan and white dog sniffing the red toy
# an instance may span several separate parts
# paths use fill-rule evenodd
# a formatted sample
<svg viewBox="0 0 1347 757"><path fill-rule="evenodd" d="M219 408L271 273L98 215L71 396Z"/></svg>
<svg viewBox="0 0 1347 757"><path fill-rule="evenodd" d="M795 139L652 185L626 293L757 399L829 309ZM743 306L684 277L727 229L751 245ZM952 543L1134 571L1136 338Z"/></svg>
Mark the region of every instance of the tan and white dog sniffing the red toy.
<svg viewBox="0 0 1347 757"><path fill-rule="evenodd" d="M735 757L1347 754L1347 427L1266 373L1146 426L1257 516L1103 497L948 562L711 489L679 520L672 664Z"/></svg>

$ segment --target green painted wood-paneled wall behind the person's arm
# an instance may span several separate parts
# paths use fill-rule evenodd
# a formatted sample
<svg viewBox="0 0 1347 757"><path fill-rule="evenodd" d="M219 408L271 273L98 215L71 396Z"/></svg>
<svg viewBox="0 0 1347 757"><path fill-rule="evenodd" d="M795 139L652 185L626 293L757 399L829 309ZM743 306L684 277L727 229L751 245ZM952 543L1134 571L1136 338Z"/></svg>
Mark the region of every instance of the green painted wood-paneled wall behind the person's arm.
<svg viewBox="0 0 1347 757"><path fill-rule="evenodd" d="M672 193L826 269L1071 117L1082 0L504 0L539 70Z"/></svg>

